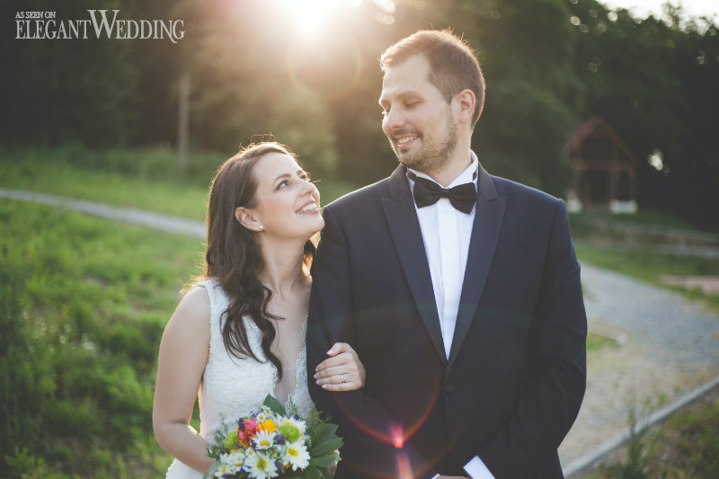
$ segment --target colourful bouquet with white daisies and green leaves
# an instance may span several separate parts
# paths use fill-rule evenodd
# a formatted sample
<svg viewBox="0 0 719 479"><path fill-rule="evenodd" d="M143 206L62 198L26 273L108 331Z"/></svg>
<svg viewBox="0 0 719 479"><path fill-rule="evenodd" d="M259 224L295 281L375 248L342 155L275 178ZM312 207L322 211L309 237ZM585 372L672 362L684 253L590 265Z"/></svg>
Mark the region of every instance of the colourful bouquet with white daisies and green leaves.
<svg viewBox="0 0 719 479"><path fill-rule="evenodd" d="M237 427L220 428L208 456L217 459L205 479L332 479L330 467L340 460L337 426L316 409L300 419L272 395L259 411L241 417Z"/></svg>

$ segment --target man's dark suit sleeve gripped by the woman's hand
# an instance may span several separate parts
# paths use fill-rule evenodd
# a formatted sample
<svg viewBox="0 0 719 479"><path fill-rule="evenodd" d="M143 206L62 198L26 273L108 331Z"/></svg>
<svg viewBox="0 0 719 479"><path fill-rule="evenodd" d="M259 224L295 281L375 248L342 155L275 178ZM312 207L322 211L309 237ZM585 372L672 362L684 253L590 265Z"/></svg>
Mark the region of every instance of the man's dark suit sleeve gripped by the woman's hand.
<svg viewBox="0 0 719 479"><path fill-rule="evenodd" d="M342 461L337 478L377 475L407 477L403 470L409 466L410 477L430 478L435 475L426 460L409 441L392 444L393 418L377 401L358 391L330 393L315 385L312 377L315 366L326 356L334 342L355 346L352 322L351 281L361 281L350 271L347 238L333 215L332 208L324 208L325 226L313 263L313 287L307 328L307 377L309 392L317 409L329 414L339 425L338 434L344 439ZM359 360L369 361L359 353ZM355 473L355 474L352 474Z"/></svg>

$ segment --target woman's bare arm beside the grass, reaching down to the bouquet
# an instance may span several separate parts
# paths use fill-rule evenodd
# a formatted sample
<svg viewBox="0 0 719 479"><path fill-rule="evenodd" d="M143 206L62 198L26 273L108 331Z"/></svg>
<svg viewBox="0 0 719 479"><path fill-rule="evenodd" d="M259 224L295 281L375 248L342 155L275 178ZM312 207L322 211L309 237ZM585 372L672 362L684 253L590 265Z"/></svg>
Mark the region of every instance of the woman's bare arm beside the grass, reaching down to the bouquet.
<svg viewBox="0 0 719 479"><path fill-rule="evenodd" d="M157 444L203 473L214 459L190 420L208 354L209 296L207 289L193 288L182 297L160 342L152 422Z"/></svg>

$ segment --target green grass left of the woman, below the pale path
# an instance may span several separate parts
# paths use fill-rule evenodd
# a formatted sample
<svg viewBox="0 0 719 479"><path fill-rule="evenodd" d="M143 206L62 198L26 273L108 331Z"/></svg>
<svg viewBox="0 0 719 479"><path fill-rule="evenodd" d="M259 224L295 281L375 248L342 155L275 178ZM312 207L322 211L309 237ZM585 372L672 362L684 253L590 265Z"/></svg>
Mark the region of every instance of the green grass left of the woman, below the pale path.
<svg viewBox="0 0 719 479"><path fill-rule="evenodd" d="M0 223L0 476L162 475L157 346L202 244L8 200Z"/></svg>

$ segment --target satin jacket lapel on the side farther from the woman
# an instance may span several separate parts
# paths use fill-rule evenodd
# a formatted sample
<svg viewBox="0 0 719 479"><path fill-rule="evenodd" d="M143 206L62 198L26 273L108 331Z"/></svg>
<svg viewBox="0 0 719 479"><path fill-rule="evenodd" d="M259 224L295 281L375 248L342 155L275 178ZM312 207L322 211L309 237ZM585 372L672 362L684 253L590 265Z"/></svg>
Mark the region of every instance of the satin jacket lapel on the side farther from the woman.
<svg viewBox="0 0 719 479"><path fill-rule="evenodd" d="M449 352L448 370L452 367L457 353L465 341L469 326L475 317L479 300L487 281L494 250L502 230L502 219L507 197L500 198L494 188L494 182L484 168L479 167L479 191L477 192L477 210L472 238L469 240L469 254L466 259L465 279L462 295L459 298L457 324Z"/></svg>

